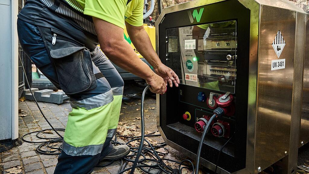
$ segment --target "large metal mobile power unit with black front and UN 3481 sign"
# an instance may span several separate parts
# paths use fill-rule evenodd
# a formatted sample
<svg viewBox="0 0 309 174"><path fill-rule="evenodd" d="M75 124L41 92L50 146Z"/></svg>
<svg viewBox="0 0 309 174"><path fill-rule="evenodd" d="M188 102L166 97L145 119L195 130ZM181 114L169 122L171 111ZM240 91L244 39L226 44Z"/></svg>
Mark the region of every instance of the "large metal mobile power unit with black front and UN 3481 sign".
<svg viewBox="0 0 309 174"><path fill-rule="evenodd" d="M296 173L298 148L309 140L308 20L287 0L164 8L156 51L180 78L178 88L157 95L157 126L167 145L194 159L211 124L203 166L253 174L277 163L283 173ZM224 115L209 122L218 107Z"/></svg>

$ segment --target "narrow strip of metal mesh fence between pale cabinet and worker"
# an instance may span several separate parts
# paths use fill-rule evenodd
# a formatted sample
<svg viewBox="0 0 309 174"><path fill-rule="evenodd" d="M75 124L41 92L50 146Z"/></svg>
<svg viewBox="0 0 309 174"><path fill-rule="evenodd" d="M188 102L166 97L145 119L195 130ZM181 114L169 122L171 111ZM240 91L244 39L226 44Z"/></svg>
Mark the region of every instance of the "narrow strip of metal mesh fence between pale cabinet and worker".
<svg viewBox="0 0 309 174"><path fill-rule="evenodd" d="M24 6L24 0L18 0L18 12L21 11L21 9ZM20 44L18 43L18 89L22 89L25 86L25 79L24 76L25 74L23 73L23 69L22 69L22 64L20 62L20 60L22 60L23 63L23 48L20 46Z"/></svg>

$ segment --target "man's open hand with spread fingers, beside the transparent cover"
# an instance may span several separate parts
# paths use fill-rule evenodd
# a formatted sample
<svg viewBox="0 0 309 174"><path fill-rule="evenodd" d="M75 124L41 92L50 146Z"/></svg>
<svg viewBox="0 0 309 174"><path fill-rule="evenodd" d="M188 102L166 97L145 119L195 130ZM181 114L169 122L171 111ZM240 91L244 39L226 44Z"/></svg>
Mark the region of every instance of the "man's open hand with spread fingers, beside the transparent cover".
<svg viewBox="0 0 309 174"><path fill-rule="evenodd" d="M159 76L161 76L164 80L168 82L170 87L173 86L173 82L175 86L178 87L178 84L180 83L179 78L177 74L171 68L161 63L154 70L156 74L158 74Z"/></svg>

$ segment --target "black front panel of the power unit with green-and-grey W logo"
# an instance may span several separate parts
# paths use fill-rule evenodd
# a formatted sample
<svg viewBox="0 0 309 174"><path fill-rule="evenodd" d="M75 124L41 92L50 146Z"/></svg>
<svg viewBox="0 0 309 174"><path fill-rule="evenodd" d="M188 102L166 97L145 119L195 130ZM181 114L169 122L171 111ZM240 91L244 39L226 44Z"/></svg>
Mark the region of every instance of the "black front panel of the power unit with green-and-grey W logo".
<svg viewBox="0 0 309 174"><path fill-rule="evenodd" d="M180 78L160 96L160 126L168 140L197 153L196 122L225 107L228 114L211 123L224 132L208 132L201 157L216 163L232 137L218 165L231 173L245 167L249 35L250 10L237 0L168 13L159 24L159 57Z"/></svg>

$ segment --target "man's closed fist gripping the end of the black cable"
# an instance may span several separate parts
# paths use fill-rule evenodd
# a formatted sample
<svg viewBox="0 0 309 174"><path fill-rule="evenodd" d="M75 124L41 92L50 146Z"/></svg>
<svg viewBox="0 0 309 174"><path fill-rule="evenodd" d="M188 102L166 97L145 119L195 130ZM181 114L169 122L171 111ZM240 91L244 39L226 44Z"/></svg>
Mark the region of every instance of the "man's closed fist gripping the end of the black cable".
<svg viewBox="0 0 309 174"><path fill-rule="evenodd" d="M149 89L151 92L156 93L156 94L165 93L165 90L166 90L165 82L162 77L156 75L155 73L151 78L146 79L146 83L150 85Z"/></svg>

